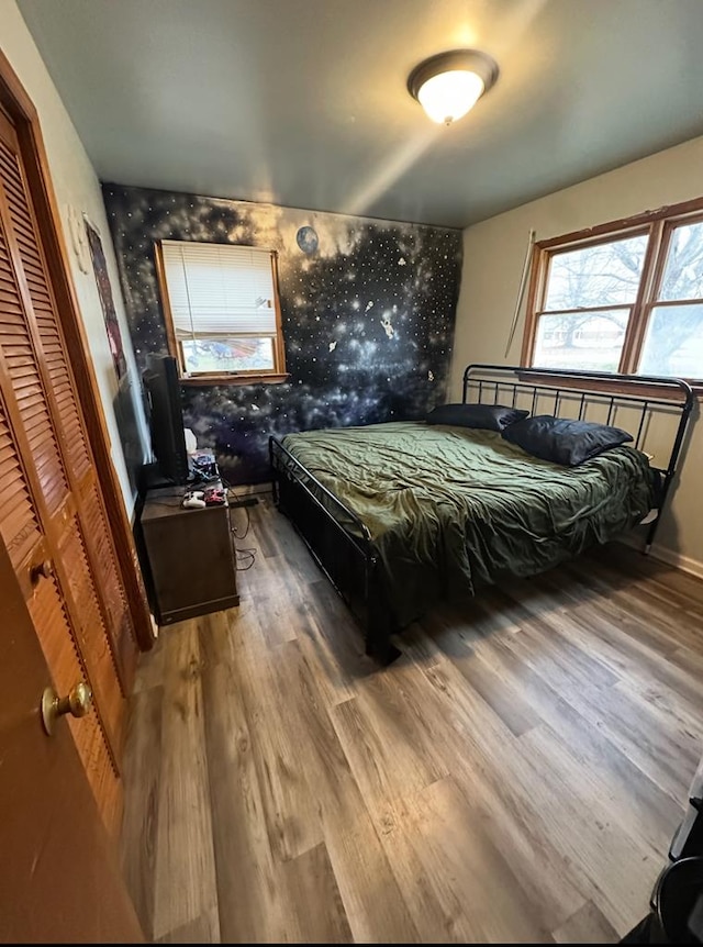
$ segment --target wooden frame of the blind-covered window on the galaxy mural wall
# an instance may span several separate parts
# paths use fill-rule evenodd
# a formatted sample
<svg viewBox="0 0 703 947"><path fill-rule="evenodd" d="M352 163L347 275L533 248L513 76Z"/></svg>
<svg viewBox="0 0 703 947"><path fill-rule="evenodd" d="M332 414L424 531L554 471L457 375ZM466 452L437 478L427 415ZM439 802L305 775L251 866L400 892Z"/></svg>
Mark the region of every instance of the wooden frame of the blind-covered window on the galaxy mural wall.
<svg viewBox="0 0 703 947"><path fill-rule="evenodd" d="M170 239L170 238L168 238ZM172 243L174 241L170 239ZM180 243L216 243L216 241L179 241ZM181 346L176 337L176 328L174 325L174 316L171 313L170 298L168 294L168 282L166 280L166 267L164 265L164 250L161 241L154 243L154 259L156 263L156 280L158 283L161 311L164 313L164 322L166 325L166 339L169 354L176 358L178 364L178 378L181 385L255 385L259 382L268 382L269 385L279 385L287 381L289 374L286 371L286 348L283 344L283 325L281 316L281 303L279 293L278 279L278 252L267 249L266 247L252 246L249 244L222 244L223 246L241 246L244 249L266 250L271 259L271 280L274 286L274 309L276 312L276 336L274 342L274 368L270 370L261 369L245 369L242 371L220 371L220 372L187 372L183 366L183 354ZM230 337L230 336L228 336Z"/></svg>

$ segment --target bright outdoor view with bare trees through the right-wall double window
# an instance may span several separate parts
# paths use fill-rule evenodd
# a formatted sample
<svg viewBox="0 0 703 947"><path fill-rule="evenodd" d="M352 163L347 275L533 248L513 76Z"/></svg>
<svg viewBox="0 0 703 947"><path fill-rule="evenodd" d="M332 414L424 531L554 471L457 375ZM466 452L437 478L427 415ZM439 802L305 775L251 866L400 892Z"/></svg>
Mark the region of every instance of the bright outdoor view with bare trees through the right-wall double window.
<svg viewBox="0 0 703 947"><path fill-rule="evenodd" d="M651 238L648 227L548 254L533 366L623 370L626 345L639 338L631 371L703 378L703 221L669 226L659 266L647 257ZM651 274L660 270L657 291ZM656 298L638 300L643 281Z"/></svg>

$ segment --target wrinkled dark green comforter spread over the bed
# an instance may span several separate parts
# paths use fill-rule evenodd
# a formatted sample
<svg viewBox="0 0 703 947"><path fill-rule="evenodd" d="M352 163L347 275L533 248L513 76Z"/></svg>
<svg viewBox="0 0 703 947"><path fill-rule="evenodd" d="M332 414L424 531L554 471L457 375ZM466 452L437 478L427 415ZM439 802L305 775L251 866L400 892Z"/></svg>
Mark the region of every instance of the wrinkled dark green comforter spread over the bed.
<svg viewBox="0 0 703 947"><path fill-rule="evenodd" d="M631 447L561 467L494 432L415 422L289 434L283 444L370 530L401 626L439 598L605 543L654 505L649 464Z"/></svg>

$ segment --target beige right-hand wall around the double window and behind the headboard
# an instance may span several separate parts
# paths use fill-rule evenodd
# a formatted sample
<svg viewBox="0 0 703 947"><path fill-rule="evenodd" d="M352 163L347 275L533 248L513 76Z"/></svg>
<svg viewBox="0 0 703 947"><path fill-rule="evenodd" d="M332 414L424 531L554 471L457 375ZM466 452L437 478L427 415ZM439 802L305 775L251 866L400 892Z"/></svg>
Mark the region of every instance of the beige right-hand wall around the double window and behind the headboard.
<svg viewBox="0 0 703 947"><path fill-rule="evenodd" d="M524 305L511 350L505 345L515 309L529 230L537 239L578 231L703 196L703 137L556 191L465 231L450 399L460 400L470 361L520 359ZM662 557L703 575L703 421L693 430L680 480L657 536Z"/></svg>

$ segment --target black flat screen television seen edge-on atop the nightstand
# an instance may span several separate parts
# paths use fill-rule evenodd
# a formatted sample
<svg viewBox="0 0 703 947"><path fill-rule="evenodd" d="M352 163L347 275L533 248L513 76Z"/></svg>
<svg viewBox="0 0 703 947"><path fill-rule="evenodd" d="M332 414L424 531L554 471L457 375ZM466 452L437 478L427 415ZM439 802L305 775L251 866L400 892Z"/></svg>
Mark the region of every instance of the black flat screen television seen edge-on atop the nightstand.
<svg viewBox="0 0 703 947"><path fill-rule="evenodd" d="M178 364L170 355L149 355L142 375L146 393L152 450L156 471L170 483L182 486L190 477L183 413L180 406Z"/></svg>

